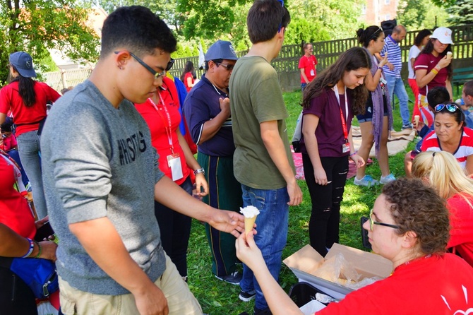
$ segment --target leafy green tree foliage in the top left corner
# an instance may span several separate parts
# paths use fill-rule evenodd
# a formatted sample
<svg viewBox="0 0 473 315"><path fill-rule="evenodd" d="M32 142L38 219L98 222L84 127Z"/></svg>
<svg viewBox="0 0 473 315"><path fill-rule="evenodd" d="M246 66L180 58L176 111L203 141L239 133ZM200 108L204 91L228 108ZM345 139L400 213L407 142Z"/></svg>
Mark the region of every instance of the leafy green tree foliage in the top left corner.
<svg viewBox="0 0 473 315"><path fill-rule="evenodd" d="M13 0L0 5L0 62L8 64L11 52L23 50L35 61L47 59L47 49L60 49L73 60L95 61L99 40L88 27L88 8L73 0ZM43 71L47 66L38 64ZM8 70L1 67L0 76Z"/></svg>

